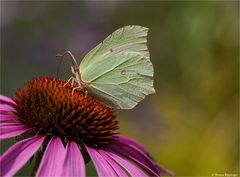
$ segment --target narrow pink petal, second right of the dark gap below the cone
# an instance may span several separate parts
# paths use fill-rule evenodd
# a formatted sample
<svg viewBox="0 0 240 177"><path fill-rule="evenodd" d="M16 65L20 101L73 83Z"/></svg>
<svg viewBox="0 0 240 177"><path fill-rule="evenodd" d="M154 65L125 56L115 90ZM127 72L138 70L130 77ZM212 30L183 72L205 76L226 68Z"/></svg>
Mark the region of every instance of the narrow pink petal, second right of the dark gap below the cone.
<svg viewBox="0 0 240 177"><path fill-rule="evenodd" d="M108 155L106 155L104 150L98 150L98 152L109 163L109 165L111 165L111 167L114 169L118 176L128 177L128 174L114 160L112 160Z"/></svg>

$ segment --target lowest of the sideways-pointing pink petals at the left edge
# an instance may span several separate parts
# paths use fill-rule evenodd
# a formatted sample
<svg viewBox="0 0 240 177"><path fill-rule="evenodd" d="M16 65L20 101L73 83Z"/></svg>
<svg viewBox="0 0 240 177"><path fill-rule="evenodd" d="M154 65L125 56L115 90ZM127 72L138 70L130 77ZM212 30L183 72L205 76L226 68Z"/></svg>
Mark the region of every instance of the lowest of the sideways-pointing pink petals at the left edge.
<svg viewBox="0 0 240 177"><path fill-rule="evenodd" d="M29 131L30 128L20 123L1 123L0 124L0 141L21 135Z"/></svg>

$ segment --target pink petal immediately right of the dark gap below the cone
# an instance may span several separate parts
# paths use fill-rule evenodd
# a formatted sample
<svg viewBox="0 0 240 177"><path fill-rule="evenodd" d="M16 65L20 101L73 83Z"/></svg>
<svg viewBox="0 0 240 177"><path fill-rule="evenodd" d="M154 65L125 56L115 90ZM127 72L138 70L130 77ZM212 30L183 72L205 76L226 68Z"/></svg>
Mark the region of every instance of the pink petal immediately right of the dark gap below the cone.
<svg viewBox="0 0 240 177"><path fill-rule="evenodd" d="M100 177L106 177L106 176L111 176L111 177L117 177L116 173L112 169L112 167L108 164L108 162L104 159L101 154L99 154L98 150L95 150L91 147L85 146L88 154L90 155L94 166L96 167L98 176Z"/></svg>

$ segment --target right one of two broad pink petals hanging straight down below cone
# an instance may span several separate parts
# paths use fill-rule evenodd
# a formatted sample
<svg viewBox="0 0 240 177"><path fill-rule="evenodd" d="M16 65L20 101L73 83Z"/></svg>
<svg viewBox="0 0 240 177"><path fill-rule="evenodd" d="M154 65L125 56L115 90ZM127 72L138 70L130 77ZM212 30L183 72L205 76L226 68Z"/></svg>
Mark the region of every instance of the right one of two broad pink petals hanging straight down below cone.
<svg viewBox="0 0 240 177"><path fill-rule="evenodd" d="M67 145L67 155L64 161L64 170L61 176L86 176L83 156L75 142Z"/></svg>

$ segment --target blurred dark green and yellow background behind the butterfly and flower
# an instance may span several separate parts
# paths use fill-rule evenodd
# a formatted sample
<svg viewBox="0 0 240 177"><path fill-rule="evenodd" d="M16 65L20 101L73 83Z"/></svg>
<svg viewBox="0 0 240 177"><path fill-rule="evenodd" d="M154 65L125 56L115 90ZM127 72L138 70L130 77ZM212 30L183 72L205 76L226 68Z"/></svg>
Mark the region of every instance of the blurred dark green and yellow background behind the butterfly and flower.
<svg viewBox="0 0 240 177"><path fill-rule="evenodd" d="M1 94L13 97L34 77L67 80L70 64L57 75L57 53L70 50L80 62L129 24L150 28L157 93L117 111L119 132L176 176L239 174L238 1L1 1Z"/></svg>

